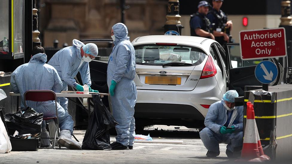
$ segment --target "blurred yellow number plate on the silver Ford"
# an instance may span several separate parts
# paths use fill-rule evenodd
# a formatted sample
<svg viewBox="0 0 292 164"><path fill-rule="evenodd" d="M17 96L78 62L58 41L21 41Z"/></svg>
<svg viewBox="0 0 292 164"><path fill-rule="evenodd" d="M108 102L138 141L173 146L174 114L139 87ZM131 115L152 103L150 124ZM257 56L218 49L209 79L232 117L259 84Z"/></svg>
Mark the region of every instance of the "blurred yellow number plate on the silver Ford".
<svg viewBox="0 0 292 164"><path fill-rule="evenodd" d="M181 85L182 78L177 76L146 76L145 84Z"/></svg>

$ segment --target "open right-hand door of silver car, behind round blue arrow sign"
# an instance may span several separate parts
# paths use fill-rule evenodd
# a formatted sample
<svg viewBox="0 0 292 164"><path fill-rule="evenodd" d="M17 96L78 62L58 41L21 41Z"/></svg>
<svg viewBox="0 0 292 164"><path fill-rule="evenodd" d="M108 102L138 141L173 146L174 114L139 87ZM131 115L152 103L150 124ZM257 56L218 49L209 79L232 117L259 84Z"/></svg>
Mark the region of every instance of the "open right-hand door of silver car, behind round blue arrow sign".
<svg viewBox="0 0 292 164"><path fill-rule="evenodd" d="M236 90L239 96L244 95L244 87L247 85L262 86L255 78L255 67L263 59L241 60L239 43L225 44L226 70L227 70L227 90ZM280 59L280 58L279 58ZM278 59L278 60L279 60ZM282 82L284 70L277 59L272 58L278 68L278 76L270 85L278 85ZM284 62L285 63L285 62ZM285 67L284 67L285 68ZM229 80L228 80L229 79Z"/></svg>

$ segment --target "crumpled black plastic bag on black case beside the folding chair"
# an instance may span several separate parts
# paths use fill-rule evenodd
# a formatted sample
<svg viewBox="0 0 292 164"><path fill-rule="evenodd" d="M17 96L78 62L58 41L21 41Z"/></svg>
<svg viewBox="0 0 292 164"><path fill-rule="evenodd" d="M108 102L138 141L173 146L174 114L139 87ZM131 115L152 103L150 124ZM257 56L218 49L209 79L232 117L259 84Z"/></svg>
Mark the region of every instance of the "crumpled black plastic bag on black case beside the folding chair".
<svg viewBox="0 0 292 164"><path fill-rule="evenodd" d="M39 114L30 107L23 108L16 113L5 114L4 117L10 136L13 136L16 130L19 132L19 136L41 134L43 114Z"/></svg>

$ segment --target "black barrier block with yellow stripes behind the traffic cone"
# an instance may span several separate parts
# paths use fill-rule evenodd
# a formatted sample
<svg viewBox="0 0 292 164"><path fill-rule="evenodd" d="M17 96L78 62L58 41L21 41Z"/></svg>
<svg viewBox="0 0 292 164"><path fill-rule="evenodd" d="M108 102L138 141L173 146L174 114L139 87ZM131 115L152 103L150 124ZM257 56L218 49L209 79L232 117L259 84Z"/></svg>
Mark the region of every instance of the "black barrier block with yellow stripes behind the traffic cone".
<svg viewBox="0 0 292 164"><path fill-rule="evenodd" d="M269 91L261 89L245 91L244 127L246 123L246 102L252 102L255 111L261 144L265 154L273 160L292 159L292 85L270 86Z"/></svg>

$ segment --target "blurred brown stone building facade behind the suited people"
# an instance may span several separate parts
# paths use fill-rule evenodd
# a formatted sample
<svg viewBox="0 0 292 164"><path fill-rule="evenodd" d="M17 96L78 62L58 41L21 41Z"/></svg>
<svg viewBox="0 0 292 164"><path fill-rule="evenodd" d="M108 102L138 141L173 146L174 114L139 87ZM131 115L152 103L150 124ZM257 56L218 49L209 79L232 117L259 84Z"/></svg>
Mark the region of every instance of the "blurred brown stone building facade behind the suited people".
<svg viewBox="0 0 292 164"><path fill-rule="evenodd" d="M130 40L161 35L168 0L126 0L125 24ZM40 0L39 31L44 47L58 47L72 39L110 38L112 25L121 22L120 0Z"/></svg>

